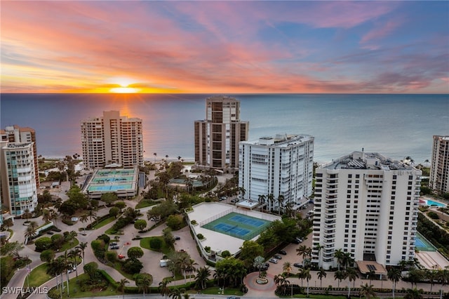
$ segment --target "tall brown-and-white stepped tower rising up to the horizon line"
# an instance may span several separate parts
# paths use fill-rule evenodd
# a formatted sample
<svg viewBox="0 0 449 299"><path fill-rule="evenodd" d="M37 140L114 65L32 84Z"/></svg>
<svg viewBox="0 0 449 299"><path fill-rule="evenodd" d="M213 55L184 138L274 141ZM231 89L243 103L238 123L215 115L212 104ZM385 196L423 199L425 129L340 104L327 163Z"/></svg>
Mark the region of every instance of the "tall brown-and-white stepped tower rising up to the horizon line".
<svg viewBox="0 0 449 299"><path fill-rule="evenodd" d="M226 95L206 99L206 119L195 121L195 162L199 168L239 168L239 142L248 138L248 121L240 120L240 101Z"/></svg>

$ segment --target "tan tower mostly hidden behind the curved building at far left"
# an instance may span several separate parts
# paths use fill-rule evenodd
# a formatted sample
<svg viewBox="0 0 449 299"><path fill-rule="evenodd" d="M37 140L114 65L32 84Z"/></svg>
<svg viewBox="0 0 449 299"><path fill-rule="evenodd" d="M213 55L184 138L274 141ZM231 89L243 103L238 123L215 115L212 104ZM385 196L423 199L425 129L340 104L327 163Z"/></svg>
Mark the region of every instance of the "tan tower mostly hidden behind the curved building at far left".
<svg viewBox="0 0 449 299"><path fill-rule="evenodd" d="M34 154L34 173L39 174L39 161L37 159L37 147L36 147L36 131L34 128L20 127L17 125L6 126L3 130L0 130L0 140L8 142L33 142L33 154ZM36 180L36 188L39 190L39 180Z"/></svg>

